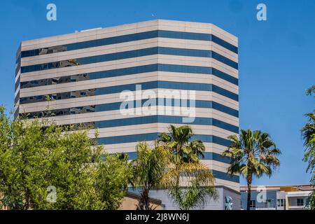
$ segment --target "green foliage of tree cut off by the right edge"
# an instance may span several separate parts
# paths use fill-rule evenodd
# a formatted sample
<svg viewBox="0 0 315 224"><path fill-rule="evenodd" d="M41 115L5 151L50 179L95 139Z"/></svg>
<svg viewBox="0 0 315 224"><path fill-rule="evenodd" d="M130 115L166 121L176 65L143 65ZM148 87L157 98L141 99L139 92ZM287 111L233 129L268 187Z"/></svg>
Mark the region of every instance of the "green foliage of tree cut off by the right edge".
<svg viewBox="0 0 315 224"><path fill-rule="evenodd" d="M315 94L315 85L309 87L307 94ZM307 172L312 173L311 185L315 185L315 111L313 113L307 113L308 122L302 128L302 137L304 139L305 154L304 162L308 162ZM311 209L315 209L315 190L310 195L309 204Z"/></svg>

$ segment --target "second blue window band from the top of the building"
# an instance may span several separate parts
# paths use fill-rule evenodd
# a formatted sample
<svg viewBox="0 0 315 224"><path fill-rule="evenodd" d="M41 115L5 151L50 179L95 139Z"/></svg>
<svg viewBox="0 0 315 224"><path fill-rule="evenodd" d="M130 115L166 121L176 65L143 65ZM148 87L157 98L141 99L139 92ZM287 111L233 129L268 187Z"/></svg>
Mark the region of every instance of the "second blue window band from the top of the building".
<svg viewBox="0 0 315 224"><path fill-rule="evenodd" d="M80 57L77 59L68 59L59 62L49 62L44 64L34 64L29 66L21 66L21 73L32 72L32 71L43 71L47 69L64 68L67 66L79 66L82 64L92 64L99 62L109 62L119 59L127 59L132 57L144 57L148 55L178 55L178 56L189 56L189 57L209 57L217 59L219 62L227 64L234 69L238 68L237 62L224 57L212 50L196 50L196 49L184 49L184 48L144 48L138 50L128 50L124 52L115 52L106 55L97 55L90 57Z"/></svg>

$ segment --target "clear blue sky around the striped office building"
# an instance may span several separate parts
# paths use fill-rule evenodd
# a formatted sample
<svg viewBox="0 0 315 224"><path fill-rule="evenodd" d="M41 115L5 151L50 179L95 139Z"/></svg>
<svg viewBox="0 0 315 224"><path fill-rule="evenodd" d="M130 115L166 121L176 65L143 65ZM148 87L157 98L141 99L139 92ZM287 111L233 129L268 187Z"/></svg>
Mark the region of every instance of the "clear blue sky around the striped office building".
<svg viewBox="0 0 315 224"><path fill-rule="evenodd" d="M46 20L48 3L56 22ZM267 21L256 20L258 3ZM1 1L0 104L13 109L20 41L155 19L211 22L239 37L240 127L269 132L283 152L274 176L253 184L309 183L300 129L315 105L304 94L315 84L315 1Z"/></svg>

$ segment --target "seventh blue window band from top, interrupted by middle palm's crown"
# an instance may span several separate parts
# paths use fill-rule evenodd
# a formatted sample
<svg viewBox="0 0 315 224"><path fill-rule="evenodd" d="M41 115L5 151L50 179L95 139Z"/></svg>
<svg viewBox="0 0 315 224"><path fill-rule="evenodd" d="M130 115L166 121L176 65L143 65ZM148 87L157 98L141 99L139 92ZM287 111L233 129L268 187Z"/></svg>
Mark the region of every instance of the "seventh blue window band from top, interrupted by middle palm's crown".
<svg viewBox="0 0 315 224"><path fill-rule="evenodd" d="M111 144L124 144L130 142L138 142L138 141L155 141L158 139L158 135L161 133L146 133L146 134L131 134L124 136L115 136L115 137L104 137L98 138L97 144L99 145L111 145ZM194 134L191 140L201 140L203 142L214 143L221 146L230 146L231 142L228 139L223 139L221 137L216 137L213 135L206 134ZM105 146L106 147L106 146Z"/></svg>

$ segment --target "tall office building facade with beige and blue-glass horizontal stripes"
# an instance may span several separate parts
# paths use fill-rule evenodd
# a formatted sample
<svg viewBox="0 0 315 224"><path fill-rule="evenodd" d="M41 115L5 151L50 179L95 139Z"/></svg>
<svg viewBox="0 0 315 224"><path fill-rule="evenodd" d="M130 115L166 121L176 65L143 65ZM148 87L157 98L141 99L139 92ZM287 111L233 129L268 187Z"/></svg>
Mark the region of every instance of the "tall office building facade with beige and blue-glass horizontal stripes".
<svg viewBox="0 0 315 224"><path fill-rule="evenodd" d="M239 191L239 176L226 174L229 158L221 155L227 137L239 132L237 50L237 37L215 25L169 20L23 41L16 62L15 117L51 111L59 125L93 125L107 152L130 158L137 142L152 144L169 124L187 124L206 146L202 161L213 170L216 185ZM121 92L137 95L137 86L157 93L155 114L121 113ZM195 92L193 122L165 113L165 90ZM181 110L175 101L171 109ZM135 110L143 106L136 100L132 105Z"/></svg>

